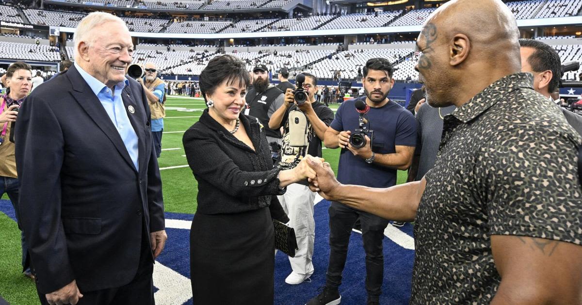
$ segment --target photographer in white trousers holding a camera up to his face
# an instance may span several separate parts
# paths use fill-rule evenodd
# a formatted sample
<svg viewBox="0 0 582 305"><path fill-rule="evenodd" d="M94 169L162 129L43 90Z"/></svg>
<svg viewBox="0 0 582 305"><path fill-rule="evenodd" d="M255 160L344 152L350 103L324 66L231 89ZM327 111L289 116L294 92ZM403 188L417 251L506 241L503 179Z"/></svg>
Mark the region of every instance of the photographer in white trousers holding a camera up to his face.
<svg viewBox="0 0 582 305"><path fill-rule="evenodd" d="M296 77L297 89L288 88L285 102L269 120L269 128L278 130L283 126L281 170L290 170L306 155L321 157L321 141L325 130L333 121L333 112L321 102L315 101L317 77L310 73L300 73ZM290 227L295 229L297 250L295 257L289 257L292 272L285 279L287 284L300 284L313 274L313 245L315 222L313 204L315 193L307 183L287 186L287 192L278 196L279 202L288 214Z"/></svg>

